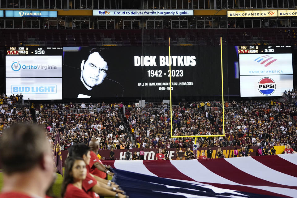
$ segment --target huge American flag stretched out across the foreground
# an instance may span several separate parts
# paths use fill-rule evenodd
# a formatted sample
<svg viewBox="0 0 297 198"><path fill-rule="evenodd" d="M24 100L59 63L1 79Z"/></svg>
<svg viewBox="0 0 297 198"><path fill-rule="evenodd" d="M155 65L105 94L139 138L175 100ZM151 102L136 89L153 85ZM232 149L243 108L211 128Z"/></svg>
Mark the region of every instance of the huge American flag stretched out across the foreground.
<svg viewBox="0 0 297 198"><path fill-rule="evenodd" d="M297 197L297 154L103 163L130 197Z"/></svg>

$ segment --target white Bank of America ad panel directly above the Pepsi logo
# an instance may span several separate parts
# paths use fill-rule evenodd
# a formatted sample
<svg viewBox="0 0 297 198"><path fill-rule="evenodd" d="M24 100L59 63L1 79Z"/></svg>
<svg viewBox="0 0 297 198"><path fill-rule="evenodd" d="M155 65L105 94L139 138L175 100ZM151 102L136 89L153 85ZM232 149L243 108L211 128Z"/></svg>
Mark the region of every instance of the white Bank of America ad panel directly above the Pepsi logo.
<svg viewBox="0 0 297 198"><path fill-rule="evenodd" d="M293 74L292 54L239 54L240 75Z"/></svg>

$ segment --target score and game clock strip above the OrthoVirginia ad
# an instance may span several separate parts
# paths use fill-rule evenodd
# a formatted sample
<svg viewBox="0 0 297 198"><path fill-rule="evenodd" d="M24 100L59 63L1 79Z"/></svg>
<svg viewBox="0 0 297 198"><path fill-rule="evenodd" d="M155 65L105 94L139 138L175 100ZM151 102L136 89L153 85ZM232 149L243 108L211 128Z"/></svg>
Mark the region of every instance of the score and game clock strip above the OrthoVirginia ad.
<svg viewBox="0 0 297 198"><path fill-rule="evenodd" d="M62 47L6 47L6 55L61 55Z"/></svg>

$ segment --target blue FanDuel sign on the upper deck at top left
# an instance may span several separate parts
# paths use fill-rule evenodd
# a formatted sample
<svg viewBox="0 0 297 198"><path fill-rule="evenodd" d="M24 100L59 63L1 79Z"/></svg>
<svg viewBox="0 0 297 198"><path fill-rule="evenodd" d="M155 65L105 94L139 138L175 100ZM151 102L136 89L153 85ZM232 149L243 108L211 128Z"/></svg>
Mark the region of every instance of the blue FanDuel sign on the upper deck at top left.
<svg viewBox="0 0 297 198"><path fill-rule="evenodd" d="M6 10L6 17L57 17L57 11Z"/></svg>

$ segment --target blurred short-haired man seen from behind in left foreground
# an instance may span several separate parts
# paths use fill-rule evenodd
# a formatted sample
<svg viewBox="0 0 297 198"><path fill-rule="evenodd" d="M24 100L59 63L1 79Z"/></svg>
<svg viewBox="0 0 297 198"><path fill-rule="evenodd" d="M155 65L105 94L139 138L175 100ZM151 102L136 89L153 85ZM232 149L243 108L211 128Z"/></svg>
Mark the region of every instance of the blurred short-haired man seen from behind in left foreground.
<svg viewBox="0 0 297 198"><path fill-rule="evenodd" d="M0 153L4 180L0 198L45 197L55 171L44 128L33 124L7 128Z"/></svg>

